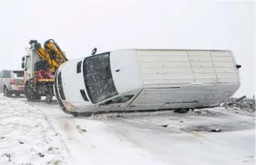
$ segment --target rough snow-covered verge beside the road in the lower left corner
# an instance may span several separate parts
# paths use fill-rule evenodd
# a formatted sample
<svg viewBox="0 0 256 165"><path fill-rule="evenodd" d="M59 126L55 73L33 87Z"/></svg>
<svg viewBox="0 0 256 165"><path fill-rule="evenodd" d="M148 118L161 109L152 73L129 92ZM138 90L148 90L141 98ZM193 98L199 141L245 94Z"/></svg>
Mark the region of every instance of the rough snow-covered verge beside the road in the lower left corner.
<svg viewBox="0 0 256 165"><path fill-rule="evenodd" d="M40 110L0 96L0 164L66 164L63 147Z"/></svg>

